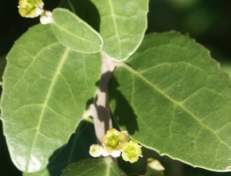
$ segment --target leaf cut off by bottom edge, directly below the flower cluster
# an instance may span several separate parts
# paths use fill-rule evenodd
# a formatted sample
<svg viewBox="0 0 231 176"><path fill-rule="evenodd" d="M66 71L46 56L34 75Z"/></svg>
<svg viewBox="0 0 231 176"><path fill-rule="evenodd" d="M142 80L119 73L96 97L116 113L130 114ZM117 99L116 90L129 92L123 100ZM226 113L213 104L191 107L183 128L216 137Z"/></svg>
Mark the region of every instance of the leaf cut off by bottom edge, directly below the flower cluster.
<svg viewBox="0 0 231 176"><path fill-rule="evenodd" d="M62 176L125 176L110 158L88 159L69 165Z"/></svg>

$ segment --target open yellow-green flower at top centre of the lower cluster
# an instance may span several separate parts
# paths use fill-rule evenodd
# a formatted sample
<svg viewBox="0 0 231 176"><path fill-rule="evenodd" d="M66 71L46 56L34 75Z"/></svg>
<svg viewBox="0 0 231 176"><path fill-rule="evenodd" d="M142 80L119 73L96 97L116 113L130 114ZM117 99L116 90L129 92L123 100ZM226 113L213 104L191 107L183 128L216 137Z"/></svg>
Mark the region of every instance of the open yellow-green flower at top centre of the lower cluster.
<svg viewBox="0 0 231 176"><path fill-rule="evenodd" d="M126 132L120 132L114 128L107 131L103 138L103 145L106 150L114 151L123 148L124 144L129 140Z"/></svg>

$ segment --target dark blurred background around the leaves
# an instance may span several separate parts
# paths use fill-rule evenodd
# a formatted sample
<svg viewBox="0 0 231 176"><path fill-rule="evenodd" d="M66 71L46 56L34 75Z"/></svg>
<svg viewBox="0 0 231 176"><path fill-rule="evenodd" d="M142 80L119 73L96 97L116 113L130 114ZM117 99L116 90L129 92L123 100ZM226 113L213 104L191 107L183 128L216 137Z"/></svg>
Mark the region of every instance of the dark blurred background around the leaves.
<svg viewBox="0 0 231 176"><path fill-rule="evenodd" d="M46 8L53 9L60 0L47 0ZM65 1L65 0L64 0ZM72 0L77 13L95 26L93 12L86 8L88 0ZM17 0L2 0L0 5L0 71L2 72L4 56L14 41L28 27L38 23L38 19L24 19L18 15ZM168 30L180 31L190 35L207 47L212 56L225 69L231 62L231 1L230 0L151 0L149 13L150 32ZM10 161L5 139L0 127L0 175L20 176L21 173ZM209 147L209 146L208 146ZM231 176L231 173L215 173L191 168L179 162L164 158L170 176Z"/></svg>

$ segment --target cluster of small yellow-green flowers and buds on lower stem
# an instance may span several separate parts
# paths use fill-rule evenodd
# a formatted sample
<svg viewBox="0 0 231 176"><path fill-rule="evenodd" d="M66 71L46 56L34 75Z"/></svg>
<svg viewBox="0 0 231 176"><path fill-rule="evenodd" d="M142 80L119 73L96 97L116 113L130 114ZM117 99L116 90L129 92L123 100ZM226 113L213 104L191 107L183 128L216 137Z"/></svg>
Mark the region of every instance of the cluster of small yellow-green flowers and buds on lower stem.
<svg viewBox="0 0 231 176"><path fill-rule="evenodd" d="M107 131L102 145L93 144L89 151L92 157L122 156L124 161L134 163L142 157L141 146L130 140L126 131L118 131L114 128Z"/></svg>

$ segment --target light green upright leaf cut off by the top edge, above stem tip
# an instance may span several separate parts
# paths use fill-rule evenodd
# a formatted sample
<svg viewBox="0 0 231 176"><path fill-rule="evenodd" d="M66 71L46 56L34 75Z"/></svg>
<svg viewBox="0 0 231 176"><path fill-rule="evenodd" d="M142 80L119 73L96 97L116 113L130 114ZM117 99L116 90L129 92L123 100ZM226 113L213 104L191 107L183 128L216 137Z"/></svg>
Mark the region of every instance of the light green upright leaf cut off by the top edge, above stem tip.
<svg viewBox="0 0 231 176"><path fill-rule="evenodd" d="M126 60L147 28L148 0L92 0L99 10L104 50L111 57Z"/></svg>

